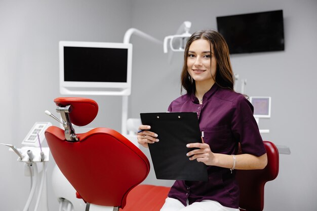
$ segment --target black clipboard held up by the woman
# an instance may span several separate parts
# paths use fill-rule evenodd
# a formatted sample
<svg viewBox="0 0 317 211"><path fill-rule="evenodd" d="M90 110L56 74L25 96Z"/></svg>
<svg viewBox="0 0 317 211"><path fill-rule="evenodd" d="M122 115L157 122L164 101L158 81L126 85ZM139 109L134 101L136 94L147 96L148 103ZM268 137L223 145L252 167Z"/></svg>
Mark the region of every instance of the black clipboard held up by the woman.
<svg viewBox="0 0 317 211"><path fill-rule="evenodd" d="M188 143L202 143L197 113L168 112L141 113L144 125L159 135L160 141L148 144L157 179L208 181L207 166L203 162L189 160Z"/></svg>

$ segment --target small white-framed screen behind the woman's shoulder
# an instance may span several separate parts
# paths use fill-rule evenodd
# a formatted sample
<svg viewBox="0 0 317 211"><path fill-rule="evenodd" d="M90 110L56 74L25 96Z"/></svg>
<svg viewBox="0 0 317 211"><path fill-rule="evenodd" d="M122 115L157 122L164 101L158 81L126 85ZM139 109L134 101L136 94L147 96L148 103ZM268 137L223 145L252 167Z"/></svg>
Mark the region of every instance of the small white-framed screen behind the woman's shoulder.
<svg viewBox="0 0 317 211"><path fill-rule="evenodd" d="M250 102L254 107L255 118L271 117L271 97L250 97Z"/></svg>

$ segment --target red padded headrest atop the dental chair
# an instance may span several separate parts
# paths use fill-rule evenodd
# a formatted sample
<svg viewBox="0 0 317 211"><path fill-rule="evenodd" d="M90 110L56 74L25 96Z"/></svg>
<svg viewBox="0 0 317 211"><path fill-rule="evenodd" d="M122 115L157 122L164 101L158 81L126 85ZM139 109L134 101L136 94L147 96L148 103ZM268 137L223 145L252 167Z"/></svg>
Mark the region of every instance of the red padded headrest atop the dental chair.
<svg viewBox="0 0 317 211"><path fill-rule="evenodd" d="M63 97L54 99L57 106L71 105L69 113L71 123L77 126L85 126L92 122L98 113L98 104L89 98Z"/></svg>

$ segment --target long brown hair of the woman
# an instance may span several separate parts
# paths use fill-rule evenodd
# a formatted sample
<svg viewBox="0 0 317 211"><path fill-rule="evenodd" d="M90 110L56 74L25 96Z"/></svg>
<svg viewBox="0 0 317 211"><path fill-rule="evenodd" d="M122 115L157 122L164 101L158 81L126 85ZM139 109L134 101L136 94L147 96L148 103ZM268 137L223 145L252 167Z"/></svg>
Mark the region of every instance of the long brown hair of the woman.
<svg viewBox="0 0 317 211"><path fill-rule="evenodd" d="M207 41L209 41L210 52L212 52L211 51L212 45L214 47L214 56L217 61L217 70L216 70L216 78L214 78L213 75L212 77L215 83L221 88L233 90L234 76L233 76L231 63L230 63L228 45L220 33L214 30L206 29L206 30L196 31L195 33L193 33L189 37L186 43L185 52L184 52L184 65L183 65L183 70L181 73L181 83L182 83L181 92L182 92L182 89L184 88L187 91L187 93L190 94L190 93L194 93L196 89L195 82L191 78L187 70L188 50L191 43L196 39L206 39Z"/></svg>

